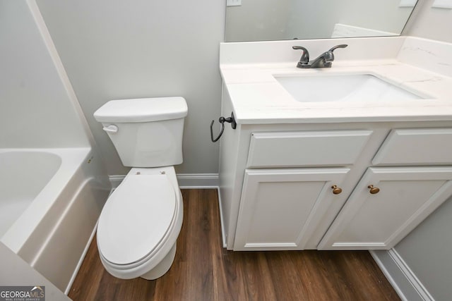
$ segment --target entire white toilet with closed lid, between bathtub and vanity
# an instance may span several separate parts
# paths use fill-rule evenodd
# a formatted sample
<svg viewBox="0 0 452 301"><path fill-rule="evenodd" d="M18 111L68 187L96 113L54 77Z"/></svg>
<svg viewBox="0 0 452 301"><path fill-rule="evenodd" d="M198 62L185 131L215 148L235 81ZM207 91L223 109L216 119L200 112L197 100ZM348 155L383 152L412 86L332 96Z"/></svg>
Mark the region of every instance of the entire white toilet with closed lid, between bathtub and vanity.
<svg viewBox="0 0 452 301"><path fill-rule="evenodd" d="M94 113L131 171L107 199L97 249L117 278L153 280L171 267L183 203L173 165L182 163L183 97L120 99Z"/></svg>

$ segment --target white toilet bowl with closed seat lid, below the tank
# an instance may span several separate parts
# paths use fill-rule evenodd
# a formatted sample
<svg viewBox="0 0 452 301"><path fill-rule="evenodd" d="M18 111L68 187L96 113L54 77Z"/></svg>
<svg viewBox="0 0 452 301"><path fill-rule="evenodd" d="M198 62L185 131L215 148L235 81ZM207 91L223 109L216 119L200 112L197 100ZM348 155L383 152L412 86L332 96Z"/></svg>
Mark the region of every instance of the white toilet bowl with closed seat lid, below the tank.
<svg viewBox="0 0 452 301"><path fill-rule="evenodd" d="M97 224L105 269L122 279L153 280L174 260L182 195L172 166L132 168L110 195Z"/></svg>

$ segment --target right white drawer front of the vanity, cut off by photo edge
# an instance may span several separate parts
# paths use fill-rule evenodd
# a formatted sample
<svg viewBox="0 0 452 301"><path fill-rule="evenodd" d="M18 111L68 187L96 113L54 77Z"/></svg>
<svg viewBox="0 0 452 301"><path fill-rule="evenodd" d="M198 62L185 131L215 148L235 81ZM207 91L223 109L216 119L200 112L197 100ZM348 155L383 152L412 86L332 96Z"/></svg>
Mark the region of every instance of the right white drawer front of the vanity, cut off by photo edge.
<svg viewBox="0 0 452 301"><path fill-rule="evenodd" d="M452 129L392 130L372 164L451 164Z"/></svg>

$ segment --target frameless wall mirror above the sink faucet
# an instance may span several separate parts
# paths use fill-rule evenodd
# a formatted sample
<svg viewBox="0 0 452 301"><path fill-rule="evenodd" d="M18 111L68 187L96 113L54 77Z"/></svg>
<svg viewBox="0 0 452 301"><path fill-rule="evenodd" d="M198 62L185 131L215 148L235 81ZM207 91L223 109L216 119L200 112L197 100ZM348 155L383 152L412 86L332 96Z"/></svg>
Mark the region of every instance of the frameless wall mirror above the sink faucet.
<svg viewBox="0 0 452 301"><path fill-rule="evenodd" d="M416 0L227 0L225 42L400 35Z"/></svg>

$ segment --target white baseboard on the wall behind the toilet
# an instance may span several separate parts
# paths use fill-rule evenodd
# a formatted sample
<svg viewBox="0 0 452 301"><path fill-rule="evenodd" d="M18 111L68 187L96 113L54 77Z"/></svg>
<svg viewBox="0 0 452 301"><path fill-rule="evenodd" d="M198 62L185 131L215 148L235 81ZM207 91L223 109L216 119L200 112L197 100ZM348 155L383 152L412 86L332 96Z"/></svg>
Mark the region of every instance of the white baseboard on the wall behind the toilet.
<svg viewBox="0 0 452 301"><path fill-rule="evenodd" d="M124 178L126 175L109 176L112 188L117 188ZM218 188L220 182L218 173L178 173L177 181L182 189Z"/></svg>

